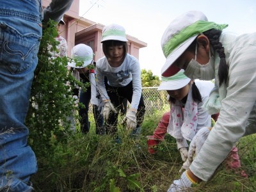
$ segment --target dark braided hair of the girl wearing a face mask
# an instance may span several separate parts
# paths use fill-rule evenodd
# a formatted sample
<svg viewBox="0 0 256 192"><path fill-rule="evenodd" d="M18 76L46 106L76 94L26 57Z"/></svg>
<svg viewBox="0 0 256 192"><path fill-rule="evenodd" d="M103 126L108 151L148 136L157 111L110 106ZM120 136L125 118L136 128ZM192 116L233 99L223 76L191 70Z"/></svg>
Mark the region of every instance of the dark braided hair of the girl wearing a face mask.
<svg viewBox="0 0 256 192"><path fill-rule="evenodd" d="M220 57L220 65L218 70L218 77L220 80L219 86L221 86L221 84L224 82L227 84L228 79L228 65L226 61L225 49L220 42L221 32L222 31L218 29L209 29L208 31L204 32L204 35L209 39L212 48L214 51L218 52Z"/></svg>

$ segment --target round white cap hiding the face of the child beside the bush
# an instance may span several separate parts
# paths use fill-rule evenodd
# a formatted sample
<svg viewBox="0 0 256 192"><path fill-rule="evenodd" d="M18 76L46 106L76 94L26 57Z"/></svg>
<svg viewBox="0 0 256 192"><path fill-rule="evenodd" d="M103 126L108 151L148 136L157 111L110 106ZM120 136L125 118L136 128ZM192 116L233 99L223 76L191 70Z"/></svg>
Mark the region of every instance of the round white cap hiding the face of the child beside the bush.
<svg viewBox="0 0 256 192"><path fill-rule="evenodd" d="M68 66L74 68L84 68L87 65L90 65L93 61L92 48L85 44L78 44L71 49L71 58L72 61L68 62ZM83 65L77 65L74 60L83 61Z"/></svg>

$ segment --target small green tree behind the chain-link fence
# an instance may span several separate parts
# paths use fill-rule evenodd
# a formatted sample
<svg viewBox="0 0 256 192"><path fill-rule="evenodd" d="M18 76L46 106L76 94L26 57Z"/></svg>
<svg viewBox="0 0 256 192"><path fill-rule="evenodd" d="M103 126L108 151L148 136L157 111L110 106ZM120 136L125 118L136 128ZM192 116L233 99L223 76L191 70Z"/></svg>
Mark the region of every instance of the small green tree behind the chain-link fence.
<svg viewBox="0 0 256 192"><path fill-rule="evenodd" d="M141 70L142 87L159 86L160 80L158 76L154 76L151 70Z"/></svg>

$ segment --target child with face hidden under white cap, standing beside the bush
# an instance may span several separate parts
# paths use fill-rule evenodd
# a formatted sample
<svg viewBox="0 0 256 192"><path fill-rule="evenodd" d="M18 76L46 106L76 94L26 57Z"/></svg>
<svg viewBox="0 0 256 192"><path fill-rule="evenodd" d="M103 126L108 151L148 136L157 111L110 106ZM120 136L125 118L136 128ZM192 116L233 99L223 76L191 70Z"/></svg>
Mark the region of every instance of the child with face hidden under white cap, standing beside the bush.
<svg viewBox="0 0 256 192"><path fill-rule="evenodd" d="M78 99L79 96L79 102L84 104L84 107L79 106L81 132L87 133L90 131L88 110L91 102L96 124L96 134L104 134L104 119L100 114L101 109L99 106L101 99L96 88L92 48L85 44L78 44L72 48L71 58L72 61L68 62L68 66L71 67L73 76L84 84L90 83L90 86L86 87L86 91L83 89L79 90L78 87L73 90L73 97Z"/></svg>

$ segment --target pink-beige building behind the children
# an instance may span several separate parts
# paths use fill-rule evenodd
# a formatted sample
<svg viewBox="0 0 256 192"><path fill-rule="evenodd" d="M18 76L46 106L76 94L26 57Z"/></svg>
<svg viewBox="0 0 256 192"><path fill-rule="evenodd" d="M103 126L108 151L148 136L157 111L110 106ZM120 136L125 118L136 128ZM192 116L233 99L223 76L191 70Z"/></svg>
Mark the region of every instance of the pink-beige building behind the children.
<svg viewBox="0 0 256 192"><path fill-rule="evenodd" d="M51 0L43 0L43 6L48 6ZM102 45L100 43L103 24L93 22L92 20L79 17L79 0L74 0L70 10L65 13L63 20L65 26L61 30L61 36L63 36L68 43L68 56L70 56L70 50L74 45L86 44L92 47L95 53L95 61L104 56L102 52ZM135 56L139 60L140 48L147 47L145 42L138 40L134 36L127 35L128 53Z"/></svg>

